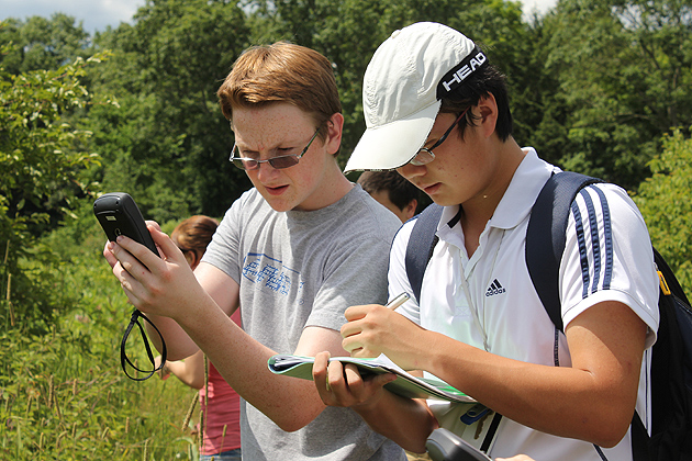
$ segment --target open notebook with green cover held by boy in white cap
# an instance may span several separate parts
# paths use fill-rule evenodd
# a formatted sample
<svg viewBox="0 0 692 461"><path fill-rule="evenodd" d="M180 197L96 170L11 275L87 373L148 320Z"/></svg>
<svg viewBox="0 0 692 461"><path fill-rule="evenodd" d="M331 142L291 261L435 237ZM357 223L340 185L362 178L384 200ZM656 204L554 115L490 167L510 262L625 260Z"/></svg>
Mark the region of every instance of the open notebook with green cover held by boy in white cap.
<svg viewBox="0 0 692 461"><path fill-rule="evenodd" d="M373 359L333 357L330 361L354 363L358 367L361 375L394 373L397 374L397 379L388 384L384 384L384 389L404 397L432 398L458 403L476 402L473 398L450 386L444 381L429 378L417 378L408 373L384 355ZM312 380L313 362L314 358L312 357L277 355L271 357L267 364L272 373L301 378L303 380Z"/></svg>

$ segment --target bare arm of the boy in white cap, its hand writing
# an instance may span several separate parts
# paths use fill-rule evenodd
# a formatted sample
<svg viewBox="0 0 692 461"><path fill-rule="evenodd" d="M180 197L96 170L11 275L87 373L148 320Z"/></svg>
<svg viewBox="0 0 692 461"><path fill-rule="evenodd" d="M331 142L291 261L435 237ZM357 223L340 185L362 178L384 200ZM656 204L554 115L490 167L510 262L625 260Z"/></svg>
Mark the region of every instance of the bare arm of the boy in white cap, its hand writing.
<svg viewBox="0 0 692 461"><path fill-rule="evenodd" d="M624 304L598 304L568 325L571 368L499 357L387 311L349 308L344 348L357 357L384 352L405 369L429 371L498 413L548 434L612 447L629 427L646 326Z"/></svg>

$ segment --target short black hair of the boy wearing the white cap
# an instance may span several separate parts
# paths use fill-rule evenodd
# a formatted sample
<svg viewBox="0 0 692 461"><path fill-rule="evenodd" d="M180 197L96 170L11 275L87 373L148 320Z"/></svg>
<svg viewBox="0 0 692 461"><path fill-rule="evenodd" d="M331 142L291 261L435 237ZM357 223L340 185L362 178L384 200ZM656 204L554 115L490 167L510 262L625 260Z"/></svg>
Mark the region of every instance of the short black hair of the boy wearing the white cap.
<svg viewBox="0 0 692 461"><path fill-rule="evenodd" d="M460 114L480 101L481 98L492 93L498 103L498 123L495 133L501 140L507 140L512 136L512 112L510 111L510 97L506 86L506 77L490 63L479 67L464 80L455 90L443 98L439 112ZM476 120L471 111L468 111L459 121L459 135L464 138L466 127L475 125Z"/></svg>

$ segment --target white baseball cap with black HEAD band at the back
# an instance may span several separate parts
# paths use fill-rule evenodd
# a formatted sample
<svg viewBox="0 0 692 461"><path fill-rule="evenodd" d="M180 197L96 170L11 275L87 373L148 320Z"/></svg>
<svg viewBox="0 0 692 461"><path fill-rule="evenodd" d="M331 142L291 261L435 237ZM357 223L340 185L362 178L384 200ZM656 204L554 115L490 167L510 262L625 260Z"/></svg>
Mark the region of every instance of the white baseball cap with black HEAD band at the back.
<svg viewBox="0 0 692 461"><path fill-rule="evenodd" d="M487 61L471 40L446 25L420 22L394 31L366 69L367 130L344 172L406 165L425 144L440 98Z"/></svg>

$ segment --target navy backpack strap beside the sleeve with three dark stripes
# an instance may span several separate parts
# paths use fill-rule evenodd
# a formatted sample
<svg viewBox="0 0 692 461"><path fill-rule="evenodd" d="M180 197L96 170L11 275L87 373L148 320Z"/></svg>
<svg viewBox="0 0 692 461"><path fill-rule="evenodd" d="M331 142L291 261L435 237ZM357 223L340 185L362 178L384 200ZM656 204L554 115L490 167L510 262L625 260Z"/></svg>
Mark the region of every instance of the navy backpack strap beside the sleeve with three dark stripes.
<svg viewBox="0 0 692 461"><path fill-rule="evenodd" d="M603 182L584 175L555 173L540 190L526 229L526 266L548 316L562 331L559 269L565 252L565 232L574 198L587 185Z"/></svg>

